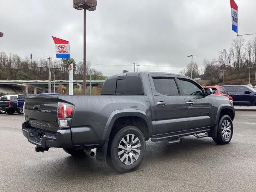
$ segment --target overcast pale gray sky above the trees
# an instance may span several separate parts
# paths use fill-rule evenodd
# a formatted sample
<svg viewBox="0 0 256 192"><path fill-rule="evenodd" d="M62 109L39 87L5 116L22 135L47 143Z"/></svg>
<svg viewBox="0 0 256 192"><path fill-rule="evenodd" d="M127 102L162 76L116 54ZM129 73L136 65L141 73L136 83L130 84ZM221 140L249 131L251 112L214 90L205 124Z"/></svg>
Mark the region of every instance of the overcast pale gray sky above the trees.
<svg viewBox="0 0 256 192"><path fill-rule="evenodd" d="M255 33L256 1L236 3L239 33ZM56 58L56 36L70 41L72 58L83 58L83 11L72 0L0 0L0 32L7 54ZM86 60L106 76L133 71L132 62L143 71L178 73L188 55L198 55L201 67L234 38L230 0L98 0L87 12Z"/></svg>

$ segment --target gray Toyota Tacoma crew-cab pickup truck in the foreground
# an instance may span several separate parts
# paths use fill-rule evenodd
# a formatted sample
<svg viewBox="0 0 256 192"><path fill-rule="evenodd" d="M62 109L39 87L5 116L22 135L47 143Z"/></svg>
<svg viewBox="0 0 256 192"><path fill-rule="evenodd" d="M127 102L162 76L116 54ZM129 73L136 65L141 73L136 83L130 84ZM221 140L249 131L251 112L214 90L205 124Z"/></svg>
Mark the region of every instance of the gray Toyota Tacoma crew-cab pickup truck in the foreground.
<svg viewBox="0 0 256 192"><path fill-rule="evenodd" d="M186 76L127 72L108 77L98 96L25 98L23 135L36 152L63 148L93 156L119 172L138 168L146 140L180 142L212 137L227 144L235 111L230 100L212 95Z"/></svg>

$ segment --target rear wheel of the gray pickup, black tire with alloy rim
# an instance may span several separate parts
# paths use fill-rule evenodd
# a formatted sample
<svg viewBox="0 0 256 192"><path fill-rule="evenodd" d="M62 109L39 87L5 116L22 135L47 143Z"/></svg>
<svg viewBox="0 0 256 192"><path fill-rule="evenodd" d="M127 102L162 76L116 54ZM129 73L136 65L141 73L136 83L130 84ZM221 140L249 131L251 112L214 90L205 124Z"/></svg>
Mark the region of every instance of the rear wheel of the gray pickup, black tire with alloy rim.
<svg viewBox="0 0 256 192"><path fill-rule="evenodd" d="M122 141L123 138L126 138L126 144ZM134 141L134 143L132 141ZM120 148L120 145L125 146L124 148ZM145 150L146 142L142 132L134 126L126 126L110 135L106 162L111 168L118 172L131 172L140 166ZM122 151L124 152L119 155L118 152ZM123 159L123 162L121 161L122 158L125 159Z"/></svg>

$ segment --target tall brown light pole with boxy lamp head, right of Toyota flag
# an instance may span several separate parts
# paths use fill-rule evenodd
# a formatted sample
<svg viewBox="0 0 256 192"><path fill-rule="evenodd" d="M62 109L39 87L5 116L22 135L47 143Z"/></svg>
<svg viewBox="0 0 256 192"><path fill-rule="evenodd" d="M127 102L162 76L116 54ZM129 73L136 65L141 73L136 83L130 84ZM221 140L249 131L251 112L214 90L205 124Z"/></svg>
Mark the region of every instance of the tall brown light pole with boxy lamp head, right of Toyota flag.
<svg viewBox="0 0 256 192"><path fill-rule="evenodd" d="M86 95L86 10L95 11L97 0L73 0L74 8L84 10L84 75L83 75L83 93Z"/></svg>

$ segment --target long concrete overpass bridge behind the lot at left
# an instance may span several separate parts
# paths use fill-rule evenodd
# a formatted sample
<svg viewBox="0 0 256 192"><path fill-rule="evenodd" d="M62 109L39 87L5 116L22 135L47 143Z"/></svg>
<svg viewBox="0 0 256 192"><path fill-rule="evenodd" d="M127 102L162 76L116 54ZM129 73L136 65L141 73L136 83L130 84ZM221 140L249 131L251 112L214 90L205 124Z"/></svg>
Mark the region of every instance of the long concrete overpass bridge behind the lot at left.
<svg viewBox="0 0 256 192"><path fill-rule="evenodd" d="M86 80L86 86L98 86L104 83L104 80ZM68 85L68 80L55 80L55 84ZM83 80L73 80L73 84L79 86L82 90ZM34 93L36 94L37 89L42 89L42 92L48 91L48 80L0 80L0 86L24 86L26 87L26 93L28 93L28 87L34 87ZM52 87L54 86L54 81L52 81Z"/></svg>

